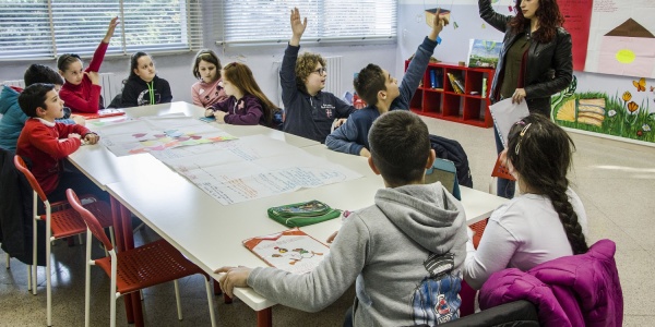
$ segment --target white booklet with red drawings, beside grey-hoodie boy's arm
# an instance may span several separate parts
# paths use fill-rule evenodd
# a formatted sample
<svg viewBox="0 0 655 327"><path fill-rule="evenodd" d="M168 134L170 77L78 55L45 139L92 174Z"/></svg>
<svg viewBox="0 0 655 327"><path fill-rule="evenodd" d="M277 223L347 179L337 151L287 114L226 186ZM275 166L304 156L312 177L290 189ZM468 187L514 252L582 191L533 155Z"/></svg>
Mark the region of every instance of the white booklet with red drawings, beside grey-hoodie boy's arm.
<svg viewBox="0 0 655 327"><path fill-rule="evenodd" d="M293 274L313 270L330 252L327 245L298 228L248 239L243 245L270 266Z"/></svg>

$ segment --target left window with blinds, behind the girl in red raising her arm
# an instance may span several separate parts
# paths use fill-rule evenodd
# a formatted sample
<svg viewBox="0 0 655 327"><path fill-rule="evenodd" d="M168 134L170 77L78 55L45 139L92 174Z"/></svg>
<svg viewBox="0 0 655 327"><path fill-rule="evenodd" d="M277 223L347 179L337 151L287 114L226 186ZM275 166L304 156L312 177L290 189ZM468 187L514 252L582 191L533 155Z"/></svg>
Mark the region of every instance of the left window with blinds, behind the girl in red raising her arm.
<svg viewBox="0 0 655 327"><path fill-rule="evenodd" d="M88 56L109 21L120 25L107 53L196 50L201 0L0 0L0 60Z"/></svg>

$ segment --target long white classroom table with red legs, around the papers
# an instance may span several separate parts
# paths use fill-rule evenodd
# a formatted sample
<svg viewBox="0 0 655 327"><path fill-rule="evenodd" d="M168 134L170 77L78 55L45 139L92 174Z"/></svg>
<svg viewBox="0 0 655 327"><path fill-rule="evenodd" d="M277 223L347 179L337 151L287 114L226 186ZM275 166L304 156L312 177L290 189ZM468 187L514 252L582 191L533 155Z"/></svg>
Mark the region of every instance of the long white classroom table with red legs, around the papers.
<svg viewBox="0 0 655 327"><path fill-rule="evenodd" d="M130 117L171 112L198 117L199 112L202 113L202 108L174 102L129 108L126 111ZM120 241L117 241L121 244L119 250L133 246L129 228L133 214L191 262L217 279L218 275L213 271L223 266L265 266L265 263L247 250L241 242L248 238L288 229L269 219L266 208L320 199L335 208L355 210L372 205L377 190L384 187L382 178L370 170L364 157L335 153L318 142L263 126L221 124L218 128L241 137L267 135L301 147L326 161L345 166L362 177L320 187L222 205L150 154L116 157L100 145L83 146L69 159L111 195L112 216L120 230L117 234L121 234ZM464 186L461 186L461 193L468 223L489 217L496 207L507 202L504 198ZM324 241L338 230L341 222L341 219L333 219L303 227L302 230ZM235 295L258 312L258 325L271 325L271 306L276 303L262 298L250 288L235 289ZM129 296L126 296L128 318L131 318L131 308L134 308L134 320L139 325L142 317L138 293L131 301L132 304L129 303Z"/></svg>

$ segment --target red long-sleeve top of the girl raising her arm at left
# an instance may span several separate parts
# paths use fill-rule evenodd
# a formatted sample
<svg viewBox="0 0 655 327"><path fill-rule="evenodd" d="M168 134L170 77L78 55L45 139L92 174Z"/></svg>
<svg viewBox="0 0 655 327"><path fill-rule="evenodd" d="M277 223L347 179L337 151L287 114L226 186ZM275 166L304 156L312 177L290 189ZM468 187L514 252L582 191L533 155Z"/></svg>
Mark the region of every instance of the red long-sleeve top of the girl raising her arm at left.
<svg viewBox="0 0 655 327"><path fill-rule="evenodd" d="M84 70L85 72L98 72L100 70L107 47L109 47L109 44L100 41L100 45L93 53L91 63ZM59 92L59 97L73 112L96 113L100 104L100 90L102 87L91 83L88 76L85 75L79 85L64 82Z"/></svg>

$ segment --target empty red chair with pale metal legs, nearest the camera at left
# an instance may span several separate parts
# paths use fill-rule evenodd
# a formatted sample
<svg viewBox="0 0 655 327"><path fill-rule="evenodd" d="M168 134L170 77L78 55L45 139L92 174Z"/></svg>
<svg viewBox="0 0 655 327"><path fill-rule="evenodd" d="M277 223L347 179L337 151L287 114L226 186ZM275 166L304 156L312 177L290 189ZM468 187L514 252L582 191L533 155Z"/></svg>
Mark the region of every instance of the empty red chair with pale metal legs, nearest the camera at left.
<svg viewBox="0 0 655 327"><path fill-rule="evenodd" d="M175 296L177 300L178 318L182 319L180 296L178 291L178 279L202 274L205 278L205 288L207 302L210 304L210 315L212 326L216 326L214 316L214 306L212 302L212 279L200 267L187 259L177 249L165 240L155 241L132 250L116 253L114 246L103 232L99 221L93 213L82 206L78 195L73 190L66 191L69 203L81 216L87 227L86 232L86 282L85 282L85 303L84 319L85 326L90 325L90 302L91 302L91 266L97 265L111 278L109 288L110 296L110 326L116 326L116 300L118 298L136 292L142 289L164 283L175 282ZM91 243L92 233L108 250L109 256L92 259Z"/></svg>

